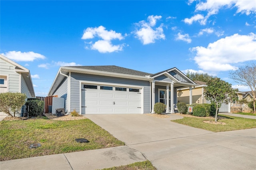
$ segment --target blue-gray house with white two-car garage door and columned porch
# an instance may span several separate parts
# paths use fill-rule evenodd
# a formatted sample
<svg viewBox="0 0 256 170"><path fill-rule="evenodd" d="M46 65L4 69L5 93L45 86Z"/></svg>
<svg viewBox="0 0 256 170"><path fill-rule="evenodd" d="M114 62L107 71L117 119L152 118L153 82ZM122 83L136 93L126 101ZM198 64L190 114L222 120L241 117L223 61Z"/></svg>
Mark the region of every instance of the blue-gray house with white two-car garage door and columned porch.
<svg viewBox="0 0 256 170"><path fill-rule="evenodd" d="M154 113L157 102L174 113L177 89L195 86L176 67L150 74L114 65L70 66L60 67L48 96L64 98L68 113L76 109L82 115Z"/></svg>

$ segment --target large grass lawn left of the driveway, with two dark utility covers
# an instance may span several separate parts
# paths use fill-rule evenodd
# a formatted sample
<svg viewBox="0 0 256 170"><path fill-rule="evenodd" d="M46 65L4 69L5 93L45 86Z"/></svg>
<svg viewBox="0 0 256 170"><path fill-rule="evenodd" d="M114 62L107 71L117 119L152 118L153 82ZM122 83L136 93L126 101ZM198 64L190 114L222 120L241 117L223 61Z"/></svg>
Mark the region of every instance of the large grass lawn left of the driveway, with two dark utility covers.
<svg viewBox="0 0 256 170"><path fill-rule="evenodd" d="M78 143L76 138L90 142ZM42 146L30 149L30 144ZM0 160L12 160L122 146L124 142L114 138L89 119L54 121L27 119L0 122Z"/></svg>

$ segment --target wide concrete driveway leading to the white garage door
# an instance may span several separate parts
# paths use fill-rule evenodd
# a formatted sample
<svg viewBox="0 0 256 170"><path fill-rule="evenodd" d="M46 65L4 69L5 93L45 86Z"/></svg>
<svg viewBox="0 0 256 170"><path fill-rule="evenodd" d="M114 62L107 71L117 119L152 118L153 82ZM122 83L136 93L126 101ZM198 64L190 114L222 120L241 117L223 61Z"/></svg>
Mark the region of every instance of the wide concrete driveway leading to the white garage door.
<svg viewBox="0 0 256 170"><path fill-rule="evenodd" d="M148 115L86 115L158 170L256 169L256 128L210 132Z"/></svg>

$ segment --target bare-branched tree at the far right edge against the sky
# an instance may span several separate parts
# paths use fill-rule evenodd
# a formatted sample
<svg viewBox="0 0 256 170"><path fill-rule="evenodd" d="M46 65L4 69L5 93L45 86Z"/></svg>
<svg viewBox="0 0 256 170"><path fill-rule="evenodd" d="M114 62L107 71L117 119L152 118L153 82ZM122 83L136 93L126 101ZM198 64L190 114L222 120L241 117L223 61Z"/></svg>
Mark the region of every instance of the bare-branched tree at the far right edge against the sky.
<svg viewBox="0 0 256 170"><path fill-rule="evenodd" d="M249 86L252 91L253 111L256 114L256 63L248 64L230 72L230 78L240 85Z"/></svg>

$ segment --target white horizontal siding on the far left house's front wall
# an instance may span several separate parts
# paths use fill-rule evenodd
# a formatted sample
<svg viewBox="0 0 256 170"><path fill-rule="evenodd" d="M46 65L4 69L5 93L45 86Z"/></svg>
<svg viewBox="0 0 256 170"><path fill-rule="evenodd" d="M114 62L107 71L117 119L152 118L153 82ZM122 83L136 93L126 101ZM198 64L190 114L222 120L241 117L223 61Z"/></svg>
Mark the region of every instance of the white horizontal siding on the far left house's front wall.
<svg viewBox="0 0 256 170"><path fill-rule="evenodd" d="M15 71L15 66L0 59L0 75L7 75L8 87L10 92L20 92L20 74Z"/></svg>

